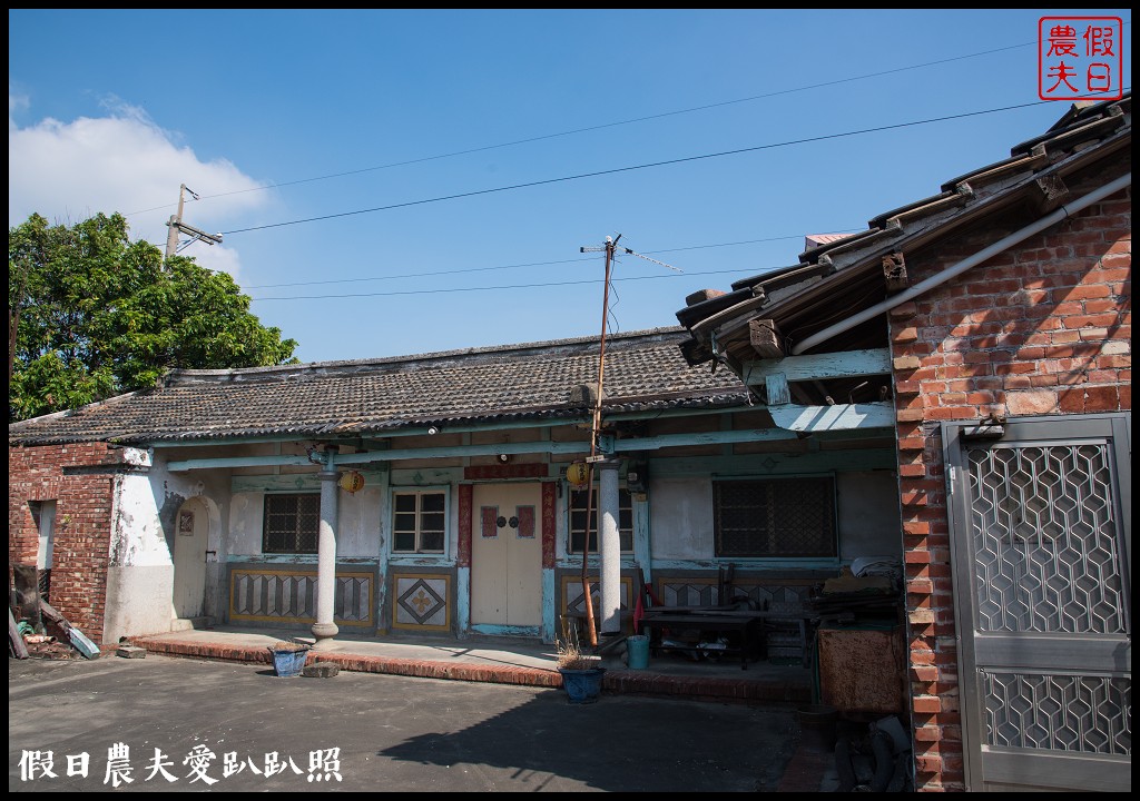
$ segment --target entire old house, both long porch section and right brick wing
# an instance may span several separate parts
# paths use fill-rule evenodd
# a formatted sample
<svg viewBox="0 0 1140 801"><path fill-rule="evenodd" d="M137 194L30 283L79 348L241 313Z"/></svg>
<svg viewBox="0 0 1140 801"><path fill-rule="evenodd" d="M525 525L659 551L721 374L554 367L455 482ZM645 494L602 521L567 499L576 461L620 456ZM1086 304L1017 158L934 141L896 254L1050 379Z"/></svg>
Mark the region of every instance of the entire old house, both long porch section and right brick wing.
<svg viewBox="0 0 1140 801"><path fill-rule="evenodd" d="M677 319L606 350L621 607L637 570L707 605L732 565L796 612L897 562L915 787L1129 788L1131 95ZM189 370L11 425L9 563L100 643L203 616L549 641L597 363Z"/></svg>

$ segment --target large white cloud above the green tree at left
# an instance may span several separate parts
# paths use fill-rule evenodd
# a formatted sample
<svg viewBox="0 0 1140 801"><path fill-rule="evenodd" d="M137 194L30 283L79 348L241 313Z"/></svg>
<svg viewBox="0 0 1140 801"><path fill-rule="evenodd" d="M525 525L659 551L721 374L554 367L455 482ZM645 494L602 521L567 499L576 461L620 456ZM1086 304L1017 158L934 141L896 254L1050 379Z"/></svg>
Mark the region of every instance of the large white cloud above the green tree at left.
<svg viewBox="0 0 1140 801"><path fill-rule="evenodd" d="M258 181L226 160L201 161L142 109L116 99L105 106L103 117L47 117L21 126L14 116L28 109L28 100L9 87L9 226L32 213L74 224L98 212L120 212L132 238L165 248L165 221L177 210L181 183L204 197L196 203L187 195L184 219L210 232L223 228L227 218L268 202L269 193L247 191L260 186ZM237 279L239 260L231 248L195 243L182 255Z"/></svg>

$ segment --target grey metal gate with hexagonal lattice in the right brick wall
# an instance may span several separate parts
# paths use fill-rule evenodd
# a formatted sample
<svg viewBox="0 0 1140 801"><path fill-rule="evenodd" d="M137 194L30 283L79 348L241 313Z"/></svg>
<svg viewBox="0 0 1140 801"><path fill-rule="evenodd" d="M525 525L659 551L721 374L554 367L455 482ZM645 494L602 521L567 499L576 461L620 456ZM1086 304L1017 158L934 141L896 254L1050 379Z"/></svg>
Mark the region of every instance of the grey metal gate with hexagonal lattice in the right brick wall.
<svg viewBox="0 0 1140 801"><path fill-rule="evenodd" d="M943 442L968 790L1131 790L1131 417Z"/></svg>

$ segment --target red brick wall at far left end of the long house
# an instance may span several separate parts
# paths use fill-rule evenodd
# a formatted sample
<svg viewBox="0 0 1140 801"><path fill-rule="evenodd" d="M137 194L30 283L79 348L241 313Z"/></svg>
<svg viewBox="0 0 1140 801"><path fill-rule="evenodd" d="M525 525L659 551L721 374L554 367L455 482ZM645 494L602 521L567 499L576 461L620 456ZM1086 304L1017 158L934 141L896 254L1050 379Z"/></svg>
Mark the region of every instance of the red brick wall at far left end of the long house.
<svg viewBox="0 0 1140 801"><path fill-rule="evenodd" d="M114 476L64 475L65 467L121 464L105 443L8 449L8 565L35 564L39 531L27 501L55 500L51 589L48 603L100 643L111 553Z"/></svg>

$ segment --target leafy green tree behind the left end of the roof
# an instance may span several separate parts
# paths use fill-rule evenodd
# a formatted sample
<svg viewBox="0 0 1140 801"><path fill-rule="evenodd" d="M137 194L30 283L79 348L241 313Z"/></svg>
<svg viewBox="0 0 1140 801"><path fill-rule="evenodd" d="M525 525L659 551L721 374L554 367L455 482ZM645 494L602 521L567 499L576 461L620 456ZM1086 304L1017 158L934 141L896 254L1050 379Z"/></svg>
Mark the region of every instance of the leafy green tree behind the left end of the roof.
<svg viewBox="0 0 1140 801"><path fill-rule="evenodd" d="M172 368L296 362L234 279L130 242L121 214L8 229L8 420L153 386Z"/></svg>

